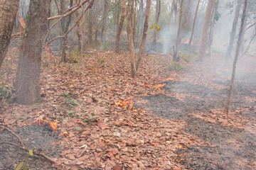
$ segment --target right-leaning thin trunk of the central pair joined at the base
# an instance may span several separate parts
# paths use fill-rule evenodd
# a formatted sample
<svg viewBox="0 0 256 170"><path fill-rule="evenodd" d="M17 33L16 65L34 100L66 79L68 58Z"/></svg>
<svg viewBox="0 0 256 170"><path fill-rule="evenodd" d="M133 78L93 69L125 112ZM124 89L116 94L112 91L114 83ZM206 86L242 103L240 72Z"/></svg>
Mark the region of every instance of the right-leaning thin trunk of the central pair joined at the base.
<svg viewBox="0 0 256 170"><path fill-rule="evenodd" d="M144 21L144 30L143 30L143 35L142 35L142 42L139 47L139 56L138 56L138 60L136 63L137 74L139 74L139 67L140 67L140 64L142 63L142 55L143 55L144 47L145 47L145 43L146 43L146 33L147 33L147 30L149 27L150 6L151 6L151 0L146 0L146 14L145 14L145 21Z"/></svg>

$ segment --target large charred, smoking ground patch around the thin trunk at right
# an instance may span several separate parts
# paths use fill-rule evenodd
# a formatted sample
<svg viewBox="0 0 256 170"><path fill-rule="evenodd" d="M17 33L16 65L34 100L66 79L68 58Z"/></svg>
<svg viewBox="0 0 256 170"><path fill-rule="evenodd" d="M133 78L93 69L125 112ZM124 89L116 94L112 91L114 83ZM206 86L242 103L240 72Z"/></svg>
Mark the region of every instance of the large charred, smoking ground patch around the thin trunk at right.
<svg viewBox="0 0 256 170"><path fill-rule="evenodd" d="M246 60L245 60L246 61ZM210 62L209 62L210 63ZM221 64L213 63L215 71L223 69ZM230 64L231 65L231 64ZM239 64L238 67L249 67ZM207 64L203 67L208 67ZM185 74L184 79L191 80L190 77L200 77L197 82L188 81L164 81L166 94L145 96L144 107L154 115L173 120L184 120L184 128L189 134L199 137L202 142L208 145L196 145L187 149L178 149L176 154L183 154L181 164L186 169L254 169L256 166L256 137L255 134L234 126L220 123L218 119L222 115L215 116L216 121L207 121L196 117L203 114L203 117L213 115L213 111L223 108L228 96L227 72L214 72L218 79L211 79L210 86L204 84L208 79L210 69L198 67L191 69ZM231 70L231 69L230 69ZM198 74L201 72L201 74ZM230 72L230 71L229 71ZM256 73L255 70L245 72L238 70L235 80L233 99L230 112L237 111L237 115L249 118L251 123L255 123L256 112ZM241 108L251 108L247 111L238 111ZM225 118L224 118L225 119ZM223 119L222 119L223 120ZM236 120L230 120L235 122Z"/></svg>

